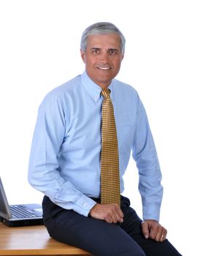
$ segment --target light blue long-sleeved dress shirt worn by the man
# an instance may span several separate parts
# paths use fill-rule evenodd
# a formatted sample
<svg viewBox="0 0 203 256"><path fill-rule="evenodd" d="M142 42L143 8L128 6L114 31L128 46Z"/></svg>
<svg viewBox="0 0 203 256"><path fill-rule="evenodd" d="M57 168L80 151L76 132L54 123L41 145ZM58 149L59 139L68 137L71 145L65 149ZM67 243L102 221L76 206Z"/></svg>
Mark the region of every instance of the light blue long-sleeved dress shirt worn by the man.
<svg viewBox="0 0 203 256"><path fill-rule="evenodd" d="M139 170L143 219L159 219L163 189L156 148L137 91L112 80L120 188L132 156ZM53 203L88 216L100 197L101 87L86 72L58 86L39 106L28 167L29 183ZM133 181L132 181L133 182Z"/></svg>

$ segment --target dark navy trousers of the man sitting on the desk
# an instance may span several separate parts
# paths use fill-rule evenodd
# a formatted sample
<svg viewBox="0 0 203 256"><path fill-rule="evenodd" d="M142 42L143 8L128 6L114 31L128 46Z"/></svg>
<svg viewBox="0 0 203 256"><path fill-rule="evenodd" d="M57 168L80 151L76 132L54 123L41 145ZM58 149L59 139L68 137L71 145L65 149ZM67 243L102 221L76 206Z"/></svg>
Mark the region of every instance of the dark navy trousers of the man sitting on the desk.
<svg viewBox="0 0 203 256"><path fill-rule="evenodd" d="M144 238L142 220L130 207L128 198L121 196L120 207L124 214L123 223L110 224L56 206L47 196L42 203L44 223L50 236L93 255L180 256L168 240L156 242Z"/></svg>

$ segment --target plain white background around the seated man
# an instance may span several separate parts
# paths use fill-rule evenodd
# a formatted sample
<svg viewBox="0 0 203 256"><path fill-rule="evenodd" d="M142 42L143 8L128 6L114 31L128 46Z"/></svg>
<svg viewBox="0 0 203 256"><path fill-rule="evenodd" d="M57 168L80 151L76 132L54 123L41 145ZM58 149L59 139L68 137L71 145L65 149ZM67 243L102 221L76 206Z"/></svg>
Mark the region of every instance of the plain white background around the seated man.
<svg viewBox="0 0 203 256"><path fill-rule="evenodd" d="M37 109L83 72L80 36L97 21L126 36L118 79L139 92L161 163L161 223L183 255L202 252L202 1L0 1L0 176L9 203L41 203L27 181ZM131 160L125 195L142 216ZM124 256L124 255L123 255Z"/></svg>

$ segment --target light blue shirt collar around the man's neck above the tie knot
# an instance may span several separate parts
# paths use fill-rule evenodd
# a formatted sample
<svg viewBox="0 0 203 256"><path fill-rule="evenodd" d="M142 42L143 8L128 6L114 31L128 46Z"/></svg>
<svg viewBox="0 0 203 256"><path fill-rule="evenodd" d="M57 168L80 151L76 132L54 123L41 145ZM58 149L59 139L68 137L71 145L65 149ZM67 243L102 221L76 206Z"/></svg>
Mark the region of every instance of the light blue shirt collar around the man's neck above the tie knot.
<svg viewBox="0 0 203 256"><path fill-rule="evenodd" d="M86 71L84 71L83 74L81 75L81 81L83 83L85 90L91 96L93 101L97 103L100 97L102 97L101 95L102 88L98 86L96 83L94 83L93 80L91 80L91 78L88 77L88 74ZM112 83L110 83L110 86L108 88L111 91L110 97L113 101L113 81Z"/></svg>

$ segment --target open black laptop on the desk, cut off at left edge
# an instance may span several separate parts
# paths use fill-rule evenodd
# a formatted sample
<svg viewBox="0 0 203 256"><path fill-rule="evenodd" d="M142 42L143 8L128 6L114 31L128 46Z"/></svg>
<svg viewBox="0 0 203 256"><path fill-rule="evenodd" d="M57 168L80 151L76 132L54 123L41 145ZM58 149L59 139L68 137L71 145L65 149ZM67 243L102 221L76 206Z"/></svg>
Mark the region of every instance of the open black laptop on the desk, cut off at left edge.
<svg viewBox="0 0 203 256"><path fill-rule="evenodd" d="M42 225L42 206L33 203L9 206L0 178L0 221L9 227Z"/></svg>

